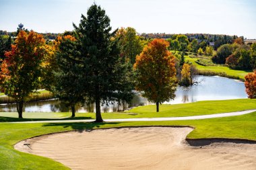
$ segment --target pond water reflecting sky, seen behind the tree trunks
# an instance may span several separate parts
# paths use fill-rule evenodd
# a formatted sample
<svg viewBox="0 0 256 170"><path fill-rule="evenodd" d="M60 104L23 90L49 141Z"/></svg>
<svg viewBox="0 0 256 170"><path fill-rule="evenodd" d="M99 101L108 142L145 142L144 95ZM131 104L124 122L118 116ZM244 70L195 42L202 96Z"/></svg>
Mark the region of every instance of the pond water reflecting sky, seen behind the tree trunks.
<svg viewBox="0 0 256 170"><path fill-rule="evenodd" d="M197 76L197 85L193 85L187 89L178 87L176 97L172 101L165 103L189 103L203 100L222 100L222 99L243 99L247 98L245 85L243 82L224 77L208 77ZM125 105L125 109L132 108L138 105L149 105L147 99L136 95L131 102L131 105ZM102 112L117 112L123 110L123 105L117 106L117 103L103 105ZM77 105L77 112L95 112L95 105ZM15 104L0 105L0 112L17 112ZM69 108L65 107L59 100L39 101L26 103L24 112L69 112Z"/></svg>

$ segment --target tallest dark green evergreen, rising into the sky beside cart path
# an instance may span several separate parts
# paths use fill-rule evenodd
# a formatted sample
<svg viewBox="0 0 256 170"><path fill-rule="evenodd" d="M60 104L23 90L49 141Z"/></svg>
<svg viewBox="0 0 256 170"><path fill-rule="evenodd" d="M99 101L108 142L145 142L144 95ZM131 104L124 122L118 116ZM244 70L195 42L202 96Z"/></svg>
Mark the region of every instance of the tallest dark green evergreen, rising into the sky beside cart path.
<svg viewBox="0 0 256 170"><path fill-rule="evenodd" d="M75 26L75 38L81 44L79 52L83 62L86 100L96 105L96 122L103 122L100 104L117 97L119 85L119 48L117 40L111 40L110 19L104 9L94 4L82 15L79 26Z"/></svg>

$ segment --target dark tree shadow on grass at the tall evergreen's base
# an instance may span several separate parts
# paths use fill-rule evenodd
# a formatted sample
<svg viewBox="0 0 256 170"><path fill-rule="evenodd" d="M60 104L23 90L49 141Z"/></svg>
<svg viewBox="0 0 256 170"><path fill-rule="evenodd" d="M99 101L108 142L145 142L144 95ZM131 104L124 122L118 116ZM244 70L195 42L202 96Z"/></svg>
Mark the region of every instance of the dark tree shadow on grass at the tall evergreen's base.
<svg viewBox="0 0 256 170"><path fill-rule="evenodd" d="M100 126L103 126L105 124L108 125L115 125L120 124L118 122L102 122L102 123L96 123L96 122L75 122L75 123L47 123L43 126L63 126L63 128L69 128L71 127L73 130L77 130L78 132L83 132L84 130L92 130L93 128L100 128Z"/></svg>

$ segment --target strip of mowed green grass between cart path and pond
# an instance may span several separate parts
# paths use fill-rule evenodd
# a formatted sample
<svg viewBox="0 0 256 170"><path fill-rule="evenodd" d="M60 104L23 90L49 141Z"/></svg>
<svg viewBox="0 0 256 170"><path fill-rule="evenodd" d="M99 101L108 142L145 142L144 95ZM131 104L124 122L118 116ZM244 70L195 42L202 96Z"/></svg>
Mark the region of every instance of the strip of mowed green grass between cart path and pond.
<svg viewBox="0 0 256 170"><path fill-rule="evenodd" d="M226 112L237 112L256 109L256 99L231 99L216 101L197 101L195 103L183 103L160 105L160 112L156 112L156 105L146 105L133 108L127 112L102 113L103 119L113 118L161 118L161 117L183 117L198 116L206 114L220 114ZM24 113L24 120L9 119L18 118L18 113L0 113L0 122L48 120L51 118L62 119L95 119L94 113L76 113L76 118L69 118L71 113Z"/></svg>

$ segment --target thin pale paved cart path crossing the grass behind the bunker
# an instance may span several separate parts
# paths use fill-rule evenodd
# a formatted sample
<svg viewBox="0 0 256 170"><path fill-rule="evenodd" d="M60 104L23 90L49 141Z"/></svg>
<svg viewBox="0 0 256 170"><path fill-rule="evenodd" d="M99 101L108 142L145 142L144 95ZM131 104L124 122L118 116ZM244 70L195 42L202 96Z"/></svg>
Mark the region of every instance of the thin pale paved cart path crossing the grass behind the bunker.
<svg viewBox="0 0 256 170"><path fill-rule="evenodd" d="M126 118L126 119L104 119L105 122L140 122L140 121L173 121L173 120L201 120L211 118L224 118L229 116L240 116L250 114L256 110L244 110L239 112L229 112L222 114L207 114L199 116L184 116L184 117L170 117L170 118ZM36 123L73 123L73 122L93 122L94 119L87 120L42 120L42 121L26 121L26 122L8 122L11 124L36 124ZM6 122L3 122L6 123Z"/></svg>

